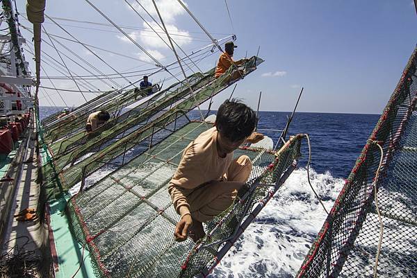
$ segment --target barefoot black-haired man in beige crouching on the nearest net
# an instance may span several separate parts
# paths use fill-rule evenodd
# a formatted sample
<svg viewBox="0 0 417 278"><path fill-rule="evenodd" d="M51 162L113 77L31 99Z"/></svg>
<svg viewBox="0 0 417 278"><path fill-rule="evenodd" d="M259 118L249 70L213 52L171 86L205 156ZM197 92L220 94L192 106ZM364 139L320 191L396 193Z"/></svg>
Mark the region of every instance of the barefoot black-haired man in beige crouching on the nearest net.
<svg viewBox="0 0 417 278"><path fill-rule="evenodd" d="M183 151L168 191L181 220L175 227L177 241L202 238L202 223L227 209L247 181L252 162L246 155L233 159L244 142L256 143L263 135L254 132L256 114L235 100L220 105L215 126L199 134Z"/></svg>

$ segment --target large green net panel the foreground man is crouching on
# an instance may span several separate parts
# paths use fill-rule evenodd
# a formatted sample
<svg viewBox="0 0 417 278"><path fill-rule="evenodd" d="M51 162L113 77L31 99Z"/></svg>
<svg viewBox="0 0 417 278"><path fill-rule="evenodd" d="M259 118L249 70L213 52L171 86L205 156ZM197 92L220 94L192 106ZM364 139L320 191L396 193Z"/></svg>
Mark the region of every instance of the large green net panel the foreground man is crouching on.
<svg viewBox="0 0 417 278"><path fill-rule="evenodd" d="M241 148L253 170L247 186L227 211L206 225L199 244L174 241L179 215L167 192L183 149L211 128L190 122L95 184L85 186L68 203L68 215L78 241L88 247L99 277L193 277L208 266L222 240L300 154L297 137L278 157L265 150ZM263 186L257 186L261 182ZM269 186L265 186L269 185Z"/></svg>

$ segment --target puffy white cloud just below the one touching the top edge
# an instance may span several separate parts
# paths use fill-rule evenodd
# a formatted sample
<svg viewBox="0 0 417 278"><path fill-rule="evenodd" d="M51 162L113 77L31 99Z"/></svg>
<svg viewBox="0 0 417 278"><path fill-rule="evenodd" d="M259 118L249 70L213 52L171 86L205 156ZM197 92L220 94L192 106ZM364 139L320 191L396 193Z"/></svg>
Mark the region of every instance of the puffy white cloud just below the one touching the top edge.
<svg viewBox="0 0 417 278"><path fill-rule="evenodd" d="M156 35L154 31L152 31L152 28L150 28L145 22L143 23L143 26L145 27L145 30L140 31L138 34L135 34L136 39L139 38L142 44L145 44L147 46L165 49L168 48L168 45L170 45L168 37L162 30L162 28L160 28L158 24L156 24L156 22L150 23L150 26L152 26L152 28L156 32L158 32L158 35L161 36L163 40L161 40L161 37ZM179 46L190 44L190 42L193 41L188 31L179 30L177 26L174 26L172 24L165 24L165 26L167 28L168 33L170 33L170 37L172 38L172 40L174 40ZM164 41L166 42L166 44L164 43ZM174 47L177 48L175 44Z"/></svg>

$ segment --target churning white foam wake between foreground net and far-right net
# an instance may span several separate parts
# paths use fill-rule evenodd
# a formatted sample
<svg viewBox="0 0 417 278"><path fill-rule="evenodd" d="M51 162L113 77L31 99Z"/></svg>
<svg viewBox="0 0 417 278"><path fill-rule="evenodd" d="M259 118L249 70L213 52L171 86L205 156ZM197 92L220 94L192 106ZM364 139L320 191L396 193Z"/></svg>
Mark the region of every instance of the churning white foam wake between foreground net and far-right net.
<svg viewBox="0 0 417 278"><path fill-rule="evenodd" d="M330 210L344 180L312 169L310 177ZM306 169L295 170L211 277L294 277L326 216Z"/></svg>

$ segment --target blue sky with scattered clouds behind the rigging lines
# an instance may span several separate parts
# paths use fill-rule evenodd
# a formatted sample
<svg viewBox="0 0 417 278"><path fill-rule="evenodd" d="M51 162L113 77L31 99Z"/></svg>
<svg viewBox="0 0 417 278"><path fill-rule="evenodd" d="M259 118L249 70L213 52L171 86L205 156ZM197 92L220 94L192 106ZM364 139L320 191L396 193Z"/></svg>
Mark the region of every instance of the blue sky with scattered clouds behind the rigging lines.
<svg viewBox="0 0 417 278"><path fill-rule="evenodd" d="M147 26L124 1L92 0L92 3L118 25L137 26L138 30L125 30L162 64L174 61L172 51L152 32L144 30ZM130 3L138 8L141 15L147 17L135 1L131 0ZM151 1L140 3L156 16ZM172 33L177 34L174 38L186 52L190 53L192 49L198 49L210 42L190 16L179 7L176 0L159 0L157 3L165 24ZM258 94L262 91L261 110L292 110L300 87L303 86L300 111L380 114L416 46L417 15L412 0L228 0L234 28L231 26L223 0L186 3L216 39L236 33L236 59L245 56L246 51L248 56L255 55L260 46L259 56L265 62L245 80L238 82L235 96L243 98L246 103L256 108ZM24 13L24 3L18 5L19 12ZM88 3L81 0L47 1L46 13L51 17L108 24ZM136 69L133 70L153 67L152 64L140 62L150 61L137 46L123 38L123 35L111 26L57 21L65 25L64 27L82 42L137 59L127 59L96 49L95 53L117 71L125 72L134 67ZM26 27L30 26L24 19L21 19L21 23ZM48 19L44 27L51 34L68 37ZM85 28L100 28L104 31ZM26 38L31 37L26 31L22 32ZM49 42L49 39L43 36L43 40ZM60 41L102 72L114 73L81 46ZM47 45L42 47L46 53L59 60L54 49ZM25 53L31 57L27 51ZM217 53L211 55L203 60L199 67L209 69L214 66L217 58ZM79 75L90 74L66 58L65 62ZM44 69L49 76L63 75L47 64L44 64ZM159 75L152 80L156 82L164 77L166 76ZM129 80L138 78L140 76ZM122 79L116 81L120 85L126 84ZM97 80L89 82L100 89L108 88ZM48 80L43 80L42 84L51 87ZM56 80L54 85L59 88L76 89L70 80ZM222 103L230 92L229 89L220 94L215 99L214 108ZM47 94L53 98L56 105L63 105L54 90L48 89ZM83 103L79 93L63 94L68 105ZM50 98L48 101L45 99L44 92L41 97L41 105L51 103ZM93 95L88 94L88 97L92 98ZM203 105L204 107L206 105Z"/></svg>

